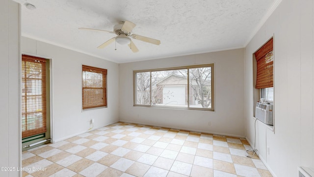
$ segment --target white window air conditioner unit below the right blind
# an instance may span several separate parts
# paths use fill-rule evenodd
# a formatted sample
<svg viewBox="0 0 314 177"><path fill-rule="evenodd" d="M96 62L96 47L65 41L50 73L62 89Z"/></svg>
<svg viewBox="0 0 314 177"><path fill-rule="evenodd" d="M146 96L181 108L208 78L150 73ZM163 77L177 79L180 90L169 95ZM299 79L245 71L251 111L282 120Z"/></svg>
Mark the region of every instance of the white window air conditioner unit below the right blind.
<svg viewBox="0 0 314 177"><path fill-rule="evenodd" d="M268 125L273 125L273 107L274 106L270 104L264 104L259 102L256 103L255 118L261 120Z"/></svg>

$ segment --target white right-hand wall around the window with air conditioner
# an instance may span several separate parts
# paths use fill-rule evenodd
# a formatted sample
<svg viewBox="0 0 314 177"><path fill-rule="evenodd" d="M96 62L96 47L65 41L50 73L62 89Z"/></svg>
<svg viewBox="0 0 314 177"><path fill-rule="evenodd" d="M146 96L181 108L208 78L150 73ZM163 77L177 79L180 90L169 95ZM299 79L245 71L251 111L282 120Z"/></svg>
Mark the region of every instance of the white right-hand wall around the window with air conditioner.
<svg viewBox="0 0 314 177"><path fill-rule="evenodd" d="M297 177L298 166L314 169L313 24L314 0L283 0L245 48L246 136L253 144L252 54L274 35L274 132L258 121L257 148L277 177Z"/></svg>

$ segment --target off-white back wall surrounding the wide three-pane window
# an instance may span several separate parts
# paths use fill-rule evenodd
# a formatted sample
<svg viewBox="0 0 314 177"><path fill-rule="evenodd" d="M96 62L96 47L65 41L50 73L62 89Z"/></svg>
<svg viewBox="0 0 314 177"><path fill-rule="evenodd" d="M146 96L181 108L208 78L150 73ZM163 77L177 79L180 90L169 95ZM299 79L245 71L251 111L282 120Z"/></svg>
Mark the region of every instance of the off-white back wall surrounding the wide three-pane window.
<svg viewBox="0 0 314 177"><path fill-rule="evenodd" d="M205 63L214 63L214 112L133 106L133 70ZM123 63L119 77L120 121L245 136L243 49Z"/></svg>

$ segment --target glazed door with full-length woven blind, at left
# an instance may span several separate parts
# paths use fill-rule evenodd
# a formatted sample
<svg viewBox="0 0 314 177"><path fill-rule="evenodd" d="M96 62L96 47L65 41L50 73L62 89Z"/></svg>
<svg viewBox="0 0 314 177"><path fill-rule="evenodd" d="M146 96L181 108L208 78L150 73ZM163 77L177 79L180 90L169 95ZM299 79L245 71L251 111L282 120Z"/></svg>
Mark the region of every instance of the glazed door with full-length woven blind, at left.
<svg viewBox="0 0 314 177"><path fill-rule="evenodd" d="M23 150L50 139L49 78L48 59L22 55Z"/></svg>

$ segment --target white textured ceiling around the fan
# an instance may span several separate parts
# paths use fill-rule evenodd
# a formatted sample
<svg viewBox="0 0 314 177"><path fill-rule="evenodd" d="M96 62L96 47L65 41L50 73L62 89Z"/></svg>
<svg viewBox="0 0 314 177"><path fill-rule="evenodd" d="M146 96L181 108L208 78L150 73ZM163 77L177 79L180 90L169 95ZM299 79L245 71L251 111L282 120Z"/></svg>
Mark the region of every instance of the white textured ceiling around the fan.
<svg viewBox="0 0 314 177"><path fill-rule="evenodd" d="M117 63L244 47L276 0L27 0L22 35ZM120 21L133 33L159 39L153 45L132 39L139 52L111 43Z"/></svg>

